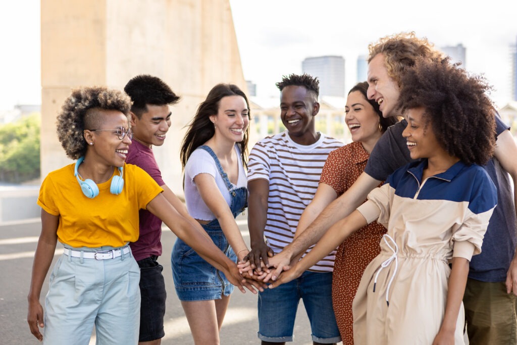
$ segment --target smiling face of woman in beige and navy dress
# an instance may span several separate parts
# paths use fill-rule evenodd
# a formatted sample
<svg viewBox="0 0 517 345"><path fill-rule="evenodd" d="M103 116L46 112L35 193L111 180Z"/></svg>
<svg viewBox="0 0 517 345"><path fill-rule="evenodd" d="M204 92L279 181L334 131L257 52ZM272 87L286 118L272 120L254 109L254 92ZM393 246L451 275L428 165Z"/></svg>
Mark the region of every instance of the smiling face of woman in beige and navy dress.
<svg viewBox="0 0 517 345"><path fill-rule="evenodd" d="M404 116L407 119L407 126L402 132L402 136L406 138L407 148L412 159L444 155L445 149L436 139L433 126L425 116L424 108L407 109Z"/></svg>

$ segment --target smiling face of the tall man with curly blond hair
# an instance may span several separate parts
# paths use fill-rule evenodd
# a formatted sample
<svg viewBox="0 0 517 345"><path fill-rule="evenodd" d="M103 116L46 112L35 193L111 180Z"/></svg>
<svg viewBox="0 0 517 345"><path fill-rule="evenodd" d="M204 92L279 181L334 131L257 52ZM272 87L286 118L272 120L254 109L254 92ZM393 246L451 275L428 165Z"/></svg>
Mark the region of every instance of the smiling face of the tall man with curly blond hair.
<svg viewBox="0 0 517 345"><path fill-rule="evenodd" d="M397 116L399 85L388 75L384 55L377 54L368 64L368 99L379 104L384 117Z"/></svg>

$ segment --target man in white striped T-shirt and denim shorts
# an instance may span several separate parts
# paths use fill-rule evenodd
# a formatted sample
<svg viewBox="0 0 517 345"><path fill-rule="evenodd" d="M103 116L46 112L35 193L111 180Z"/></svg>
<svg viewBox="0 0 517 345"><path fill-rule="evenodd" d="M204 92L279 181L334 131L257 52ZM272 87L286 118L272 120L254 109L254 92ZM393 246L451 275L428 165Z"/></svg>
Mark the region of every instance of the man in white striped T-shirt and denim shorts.
<svg viewBox="0 0 517 345"><path fill-rule="evenodd" d="M268 257L293 241L300 216L316 193L328 154L343 146L316 132L314 118L320 110L318 84L308 74L291 74L277 83L281 92L280 116L286 130L257 142L250 153L249 260L258 271L261 260L267 266ZM262 344L293 341L300 298L309 316L313 343L341 340L332 310L333 263L334 252L292 283L260 293L258 338Z"/></svg>

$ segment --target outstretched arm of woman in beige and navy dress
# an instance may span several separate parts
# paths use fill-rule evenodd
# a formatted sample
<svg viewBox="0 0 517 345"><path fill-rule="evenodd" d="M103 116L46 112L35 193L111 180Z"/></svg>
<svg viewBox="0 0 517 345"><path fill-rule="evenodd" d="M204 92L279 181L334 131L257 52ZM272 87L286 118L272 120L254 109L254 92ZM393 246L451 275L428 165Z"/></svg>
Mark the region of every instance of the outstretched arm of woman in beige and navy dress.
<svg viewBox="0 0 517 345"><path fill-rule="evenodd" d="M303 257L303 259L295 264L292 269L282 273L278 280L270 284L269 288L275 288L280 284L289 282L301 276L301 274L307 271L308 268L312 267L318 261L326 257L328 253L336 249L336 247L341 244L346 237L366 225L367 221L359 211L354 211L348 217L334 223L320 241L318 241L316 246L312 248L311 251ZM277 271L271 273L271 278L273 280L278 277L278 274L280 274L279 271L281 272L281 270L277 269ZM268 277L266 277L266 279L267 278ZM264 280L266 281L266 279Z"/></svg>

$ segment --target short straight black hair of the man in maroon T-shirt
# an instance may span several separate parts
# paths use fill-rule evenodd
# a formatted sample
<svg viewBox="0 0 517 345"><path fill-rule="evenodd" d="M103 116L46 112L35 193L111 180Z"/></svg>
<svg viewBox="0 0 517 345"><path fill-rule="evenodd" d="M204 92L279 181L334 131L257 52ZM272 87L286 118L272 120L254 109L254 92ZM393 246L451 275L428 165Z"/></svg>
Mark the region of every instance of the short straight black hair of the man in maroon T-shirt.
<svg viewBox="0 0 517 345"><path fill-rule="evenodd" d="M140 74L133 77L126 86L124 91L131 97L133 105L131 111L138 118L147 112L147 104L153 106L165 106L166 104L175 104L180 97L177 96L169 85L165 84L160 78L149 76L149 74Z"/></svg>

